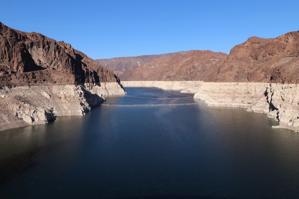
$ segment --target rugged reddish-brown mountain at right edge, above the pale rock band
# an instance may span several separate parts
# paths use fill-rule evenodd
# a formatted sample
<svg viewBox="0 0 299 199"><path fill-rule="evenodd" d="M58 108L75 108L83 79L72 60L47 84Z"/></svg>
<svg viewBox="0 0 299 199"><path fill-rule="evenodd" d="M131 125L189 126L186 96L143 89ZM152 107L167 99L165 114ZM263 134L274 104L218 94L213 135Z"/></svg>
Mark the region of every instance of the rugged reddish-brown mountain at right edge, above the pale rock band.
<svg viewBox="0 0 299 199"><path fill-rule="evenodd" d="M299 31L274 39L250 37L233 47L208 79L217 82L298 83L298 73Z"/></svg>

